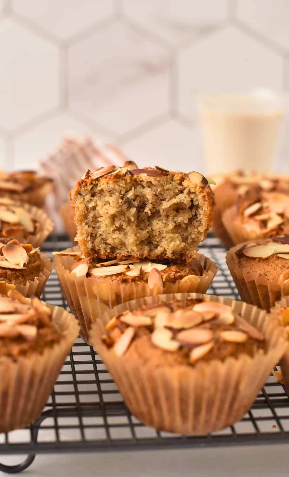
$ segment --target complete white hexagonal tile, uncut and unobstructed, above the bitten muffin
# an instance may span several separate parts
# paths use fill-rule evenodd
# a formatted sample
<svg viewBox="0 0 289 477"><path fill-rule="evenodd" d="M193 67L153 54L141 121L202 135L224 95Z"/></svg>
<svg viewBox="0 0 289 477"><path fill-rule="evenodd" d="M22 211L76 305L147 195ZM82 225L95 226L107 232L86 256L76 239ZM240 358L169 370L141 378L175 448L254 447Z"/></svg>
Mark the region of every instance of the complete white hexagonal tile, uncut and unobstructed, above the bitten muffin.
<svg viewBox="0 0 289 477"><path fill-rule="evenodd" d="M168 52L120 22L69 49L70 103L123 135L169 109Z"/></svg>

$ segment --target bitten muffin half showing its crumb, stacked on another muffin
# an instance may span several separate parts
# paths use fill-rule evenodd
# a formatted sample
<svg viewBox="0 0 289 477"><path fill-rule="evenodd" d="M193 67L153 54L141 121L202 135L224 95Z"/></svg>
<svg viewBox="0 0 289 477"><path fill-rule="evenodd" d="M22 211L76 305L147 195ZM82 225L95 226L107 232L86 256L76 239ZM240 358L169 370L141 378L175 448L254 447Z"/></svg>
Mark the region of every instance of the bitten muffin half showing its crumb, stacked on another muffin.
<svg viewBox="0 0 289 477"><path fill-rule="evenodd" d="M213 222L214 195L197 172L102 167L70 197L85 257L190 261Z"/></svg>

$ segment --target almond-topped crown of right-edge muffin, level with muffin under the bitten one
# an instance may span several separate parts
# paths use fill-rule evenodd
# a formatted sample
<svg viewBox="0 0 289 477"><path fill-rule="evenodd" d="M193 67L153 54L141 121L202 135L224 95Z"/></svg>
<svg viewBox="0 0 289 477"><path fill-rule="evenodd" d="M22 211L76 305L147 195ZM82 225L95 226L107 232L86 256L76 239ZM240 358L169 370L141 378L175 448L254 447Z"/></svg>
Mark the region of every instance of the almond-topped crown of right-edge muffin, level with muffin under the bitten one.
<svg viewBox="0 0 289 477"><path fill-rule="evenodd" d="M289 235L248 241L233 248L237 257L236 268L246 273L266 275L268 280L289 279Z"/></svg>

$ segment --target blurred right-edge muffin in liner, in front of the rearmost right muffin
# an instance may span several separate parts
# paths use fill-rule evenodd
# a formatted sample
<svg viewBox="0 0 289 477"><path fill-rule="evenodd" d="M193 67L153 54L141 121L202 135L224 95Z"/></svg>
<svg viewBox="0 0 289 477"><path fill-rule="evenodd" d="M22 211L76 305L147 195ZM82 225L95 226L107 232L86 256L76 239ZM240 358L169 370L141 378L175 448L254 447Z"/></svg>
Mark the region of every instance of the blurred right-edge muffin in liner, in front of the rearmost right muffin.
<svg viewBox="0 0 289 477"><path fill-rule="evenodd" d="M289 194L251 190L225 210L222 221L234 244L289 233Z"/></svg>

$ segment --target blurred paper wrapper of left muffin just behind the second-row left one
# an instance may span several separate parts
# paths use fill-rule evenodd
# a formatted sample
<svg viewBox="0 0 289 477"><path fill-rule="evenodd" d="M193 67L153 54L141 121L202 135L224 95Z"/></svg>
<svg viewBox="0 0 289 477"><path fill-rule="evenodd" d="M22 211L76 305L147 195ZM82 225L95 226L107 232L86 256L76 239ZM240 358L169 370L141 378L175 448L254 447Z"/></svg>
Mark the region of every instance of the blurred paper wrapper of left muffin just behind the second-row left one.
<svg viewBox="0 0 289 477"><path fill-rule="evenodd" d="M31 214L31 217L39 223L40 229L35 234L28 236L17 234L15 239L21 243L31 243L31 245L33 245L35 248L40 247L44 240L47 239L47 237L51 234L54 224L44 210L35 206L31 206L30 204L21 204L21 207L27 210Z"/></svg>

